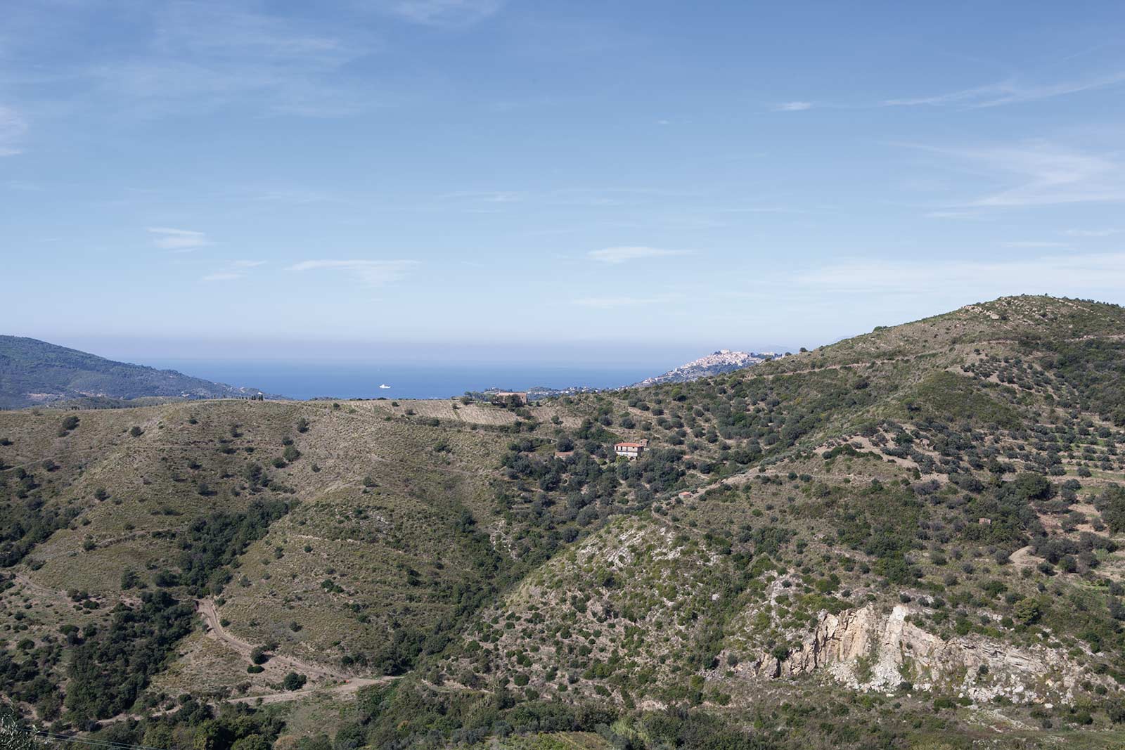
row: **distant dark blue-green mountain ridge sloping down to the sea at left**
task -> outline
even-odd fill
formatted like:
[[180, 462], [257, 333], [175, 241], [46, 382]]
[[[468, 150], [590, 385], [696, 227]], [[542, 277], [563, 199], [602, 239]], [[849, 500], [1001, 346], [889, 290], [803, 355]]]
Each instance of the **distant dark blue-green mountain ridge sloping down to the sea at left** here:
[[256, 396], [176, 370], [115, 362], [36, 338], [0, 336], [0, 407], [20, 408], [74, 398], [231, 398]]

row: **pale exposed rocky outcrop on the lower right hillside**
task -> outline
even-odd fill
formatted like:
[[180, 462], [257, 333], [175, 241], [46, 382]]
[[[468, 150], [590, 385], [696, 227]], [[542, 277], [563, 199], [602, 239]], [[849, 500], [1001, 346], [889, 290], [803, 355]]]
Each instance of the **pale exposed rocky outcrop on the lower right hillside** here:
[[838, 615], [821, 613], [801, 648], [778, 660], [763, 654], [747, 665], [759, 677], [793, 677], [824, 670], [849, 687], [892, 692], [903, 683], [974, 702], [1005, 696], [1023, 703], [1069, 701], [1089, 675], [1060, 650], [1016, 648], [966, 635], [942, 640], [908, 622], [910, 608], [868, 605]]

